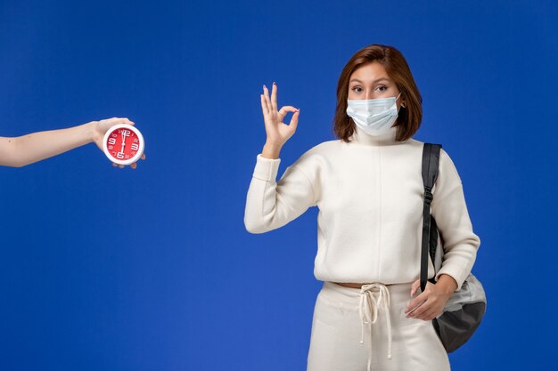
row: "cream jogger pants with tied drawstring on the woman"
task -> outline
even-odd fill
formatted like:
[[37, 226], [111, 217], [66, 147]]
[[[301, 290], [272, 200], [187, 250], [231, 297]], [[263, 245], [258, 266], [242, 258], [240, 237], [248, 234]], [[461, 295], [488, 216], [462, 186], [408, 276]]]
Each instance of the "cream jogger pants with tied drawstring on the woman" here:
[[432, 322], [406, 318], [412, 299], [411, 283], [353, 288], [324, 282], [307, 371], [449, 371]]

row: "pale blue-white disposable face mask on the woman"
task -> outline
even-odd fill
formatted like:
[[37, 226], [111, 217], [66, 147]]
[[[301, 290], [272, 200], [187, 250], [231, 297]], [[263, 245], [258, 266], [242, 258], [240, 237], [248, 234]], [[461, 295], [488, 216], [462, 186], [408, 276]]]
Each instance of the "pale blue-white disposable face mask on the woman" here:
[[391, 125], [398, 118], [396, 101], [399, 95], [397, 98], [347, 100], [347, 115], [368, 135], [377, 136], [389, 133]]

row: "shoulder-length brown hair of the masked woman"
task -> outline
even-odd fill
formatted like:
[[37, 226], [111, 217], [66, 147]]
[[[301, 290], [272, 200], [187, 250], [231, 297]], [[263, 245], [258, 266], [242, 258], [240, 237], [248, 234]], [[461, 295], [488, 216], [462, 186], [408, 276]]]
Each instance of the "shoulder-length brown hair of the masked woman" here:
[[423, 97], [414, 84], [411, 69], [403, 54], [393, 46], [381, 44], [368, 45], [356, 52], [341, 71], [337, 83], [337, 107], [333, 118], [333, 132], [342, 141], [349, 141], [349, 137], [355, 133], [355, 123], [347, 115], [349, 78], [355, 69], [373, 61], [382, 63], [388, 76], [398, 86], [401, 100], [406, 102], [406, 107], [400, 107], [398, 119], [394, 124], [398, 127], [396, 140], [406, 141], [416, 133], [423, 120]]

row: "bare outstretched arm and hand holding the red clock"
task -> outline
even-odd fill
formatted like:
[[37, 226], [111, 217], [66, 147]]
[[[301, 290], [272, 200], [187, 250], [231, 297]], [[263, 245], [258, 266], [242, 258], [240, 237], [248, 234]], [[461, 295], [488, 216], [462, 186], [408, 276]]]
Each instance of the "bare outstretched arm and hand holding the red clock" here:
[[[21, 167], [83, 146], [92, 141], [103, 150], [103, 137], [112, 126], [134, 125], [127, 118], [108, 118], [68, 129], [31, 133], [17, 138], [0, 137], [0, 165]], [[142, 156], [145, 159], [145, 155]], [[116, 166], [116, 164], [112, 164]], [[135, 169], [137, 164], [130, 167]], [[119, 165], [123, 168], [124, 165]]]

